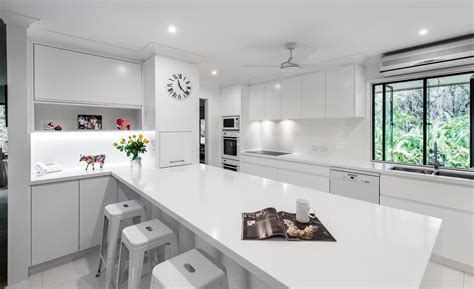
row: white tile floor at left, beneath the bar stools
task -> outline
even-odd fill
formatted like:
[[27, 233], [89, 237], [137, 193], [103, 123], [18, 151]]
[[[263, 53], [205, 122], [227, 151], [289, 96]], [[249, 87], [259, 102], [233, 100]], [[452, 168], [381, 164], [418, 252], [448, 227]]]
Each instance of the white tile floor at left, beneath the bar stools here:
[[[7, 289], [102, 289], [105, 273], [95, 277], [98, 252], [30, 276], [27, 280], [12, 284]], [[150, 288], [150, 274], [143, 276], [140, 289]]]

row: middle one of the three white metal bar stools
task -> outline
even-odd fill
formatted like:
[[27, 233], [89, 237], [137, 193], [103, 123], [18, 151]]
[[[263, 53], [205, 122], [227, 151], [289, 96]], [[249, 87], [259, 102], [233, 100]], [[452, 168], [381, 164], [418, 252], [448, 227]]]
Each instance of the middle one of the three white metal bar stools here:
[[[178, 254], [176, 235], [158, 219], [123, 229], [116, 288], [119, 288], [119, 285], [126, 280], [127, 261], [128, 289], [140, 288], [145, 252], [148, 252], [149, 259], [151, 259], [150, 255], [152, 254], [149, 253], [151, 251], [156, 253], [156, 249], [163, 245], [168, 245], [169, 249], [166, 251], [166, 259]], [[157, 261], [155, 260], [156, 263]], [[152, 262], [150, 261], [150, 263]]]

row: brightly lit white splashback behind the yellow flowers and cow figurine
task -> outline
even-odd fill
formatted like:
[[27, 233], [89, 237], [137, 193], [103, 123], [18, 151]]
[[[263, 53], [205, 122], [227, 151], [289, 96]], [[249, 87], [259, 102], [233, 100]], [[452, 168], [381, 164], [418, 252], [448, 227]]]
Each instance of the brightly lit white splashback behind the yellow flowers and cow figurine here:
[[133, 134], [143, 134], [150, 139], [148, 152], [143, 155], [144, 166], [154, 166], [155, 132], [154, 131], [62, 131], [31, 133], [31, 163], [58, 162], [64, 169], [86, 166], [79, 162], [80, 155], [106, 154], [105, 166], [108, 164], [127, 164], [125, 153], [112, 146], [121, 138]]

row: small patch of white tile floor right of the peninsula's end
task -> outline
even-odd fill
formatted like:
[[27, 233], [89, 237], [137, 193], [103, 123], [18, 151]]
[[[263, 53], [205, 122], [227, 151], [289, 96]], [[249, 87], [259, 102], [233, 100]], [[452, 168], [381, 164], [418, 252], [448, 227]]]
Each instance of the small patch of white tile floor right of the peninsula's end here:
[[429, 262], [426, 267], [420, 289], [467, 289], [464, 284], [464, 273]]

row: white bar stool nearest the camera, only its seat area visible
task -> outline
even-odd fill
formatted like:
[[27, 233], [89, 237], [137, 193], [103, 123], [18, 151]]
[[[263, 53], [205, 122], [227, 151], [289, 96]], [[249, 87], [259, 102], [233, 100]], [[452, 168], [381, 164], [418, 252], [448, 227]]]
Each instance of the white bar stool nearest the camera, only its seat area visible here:
[[151, 289], [225, 289], [224, 270], [193, 249], [153, 268]]

